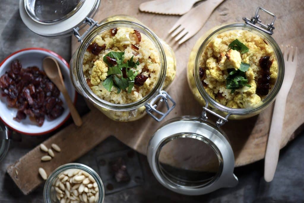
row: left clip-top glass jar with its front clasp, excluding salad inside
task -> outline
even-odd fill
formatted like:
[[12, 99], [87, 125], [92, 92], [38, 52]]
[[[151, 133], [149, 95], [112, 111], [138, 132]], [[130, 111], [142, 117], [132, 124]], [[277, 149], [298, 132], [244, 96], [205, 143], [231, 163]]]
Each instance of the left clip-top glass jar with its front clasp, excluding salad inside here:
[[[154, 88], [151, 89], [147, 95], [133, 103], [119, 104], [102, 100], [92, 92], [84, 77], [83, 59], [88, 46], [98, 34], [114, 28], [131, 28], [139, 31], [141, 35], [145, 35], [152, 41], [160, 58], [160, 72]], [[82, 39], [80, 41], [82, 41]], [[135, 121], [143, 117], [146, 113], [152, 116], [155, 120], [161, 121], [175, 106], [174, 101], [168, 93], [163, 90], [171, 84], [175, 77], [176, 61], [174, 52], [167, 43], [131, 16], [118, 15], [102, 20], [101, 24], [99, 24], [95, 30], [91, 31], [83, 39], [81, 45], [72, 56], [70, 67], [71, 79], [78, 93], [90, 101], [98, 110], [102, 111], [106, 116], [115, 121]], [[166, 103], [167, 112], [162, 113], [155, 109], [155, 103], [158, 100]], [[169, 107], [168, 104], [169, 100], [172, 103], [171, 107]], [[161, 117], [153, 115], [153, 111], [160, 114]]]

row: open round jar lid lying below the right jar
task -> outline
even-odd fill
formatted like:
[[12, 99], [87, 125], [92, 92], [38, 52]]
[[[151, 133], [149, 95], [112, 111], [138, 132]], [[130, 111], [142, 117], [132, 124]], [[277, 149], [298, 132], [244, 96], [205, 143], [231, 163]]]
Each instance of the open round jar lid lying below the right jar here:
[[197, 117], [163, 124], [149, 142], [147, 159], [157, 180], [180, 194], [201, 195], [238, 183], [225, 133]]

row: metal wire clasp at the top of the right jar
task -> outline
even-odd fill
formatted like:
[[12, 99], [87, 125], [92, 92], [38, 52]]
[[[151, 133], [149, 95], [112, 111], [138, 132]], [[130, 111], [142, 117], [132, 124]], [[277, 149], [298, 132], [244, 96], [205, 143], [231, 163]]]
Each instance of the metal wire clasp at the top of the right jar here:
[[[262, 20], [259, 19], [260, 15], [258, 14], [260, 10], [273, 17], [272, 22], [270, 24], [264, 25], [263, 23], [261, 23]], [[270, 35], [273, 34], [273, 30], [275, 29], [275, 27], [273, 26], [275, 24], [275, 19], [276, 19], [275, 14], [273, 14], [273, 13], [271, 13], [271, 12], [261, 8], [261, 7], [257, 7], [257, 11], [255, 12], [254, 17], [251, 17], [251, 20], [248, 19], [248, 18], [245, 18], [245, 17], [243, 18], [245, 23], [247, 23], [247, 24], [249, 24], [249, 25], [265, 32], [265, 33], [268, 33]], [[260, 26], [258, 26], [256, 24], [258, 24]]]

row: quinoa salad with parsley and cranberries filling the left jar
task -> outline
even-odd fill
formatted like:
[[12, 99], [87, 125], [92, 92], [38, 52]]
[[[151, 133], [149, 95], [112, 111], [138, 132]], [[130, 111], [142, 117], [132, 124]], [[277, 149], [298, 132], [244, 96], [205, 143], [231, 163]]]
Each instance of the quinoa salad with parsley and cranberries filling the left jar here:
[[[174, 55], [165, 45], [167, 70], [164, 88], [175, 76]], [[160, 71], [160, 56], [154, 43], [146, 35], [127, 27], [98, 34], [83, 58], [83, 73], [92, 92], [115, 104], [141, 100], [156, 85]], [[111, 111], [111, 117], [130, 121], [143, 116], [144, 112], [145, 107], [142, 106], [132, 111]]]

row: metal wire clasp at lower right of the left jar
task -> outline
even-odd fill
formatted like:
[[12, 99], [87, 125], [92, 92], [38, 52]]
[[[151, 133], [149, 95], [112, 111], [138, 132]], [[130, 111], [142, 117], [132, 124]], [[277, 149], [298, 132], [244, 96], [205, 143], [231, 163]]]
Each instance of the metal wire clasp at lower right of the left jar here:
[[[157, 101], [160, 99], [161, 102], [165, 102], [166, 107], [167, 107], [167, 111], [166, 112], [161, 112], [159, 110], [156, 109], [157, 105], [155, 103], [157, 103]], [[168, 103], [168, 99], [171, 101], [172, 106], [169, 107], [169, 103]], [[145, 107], [146, 107], [146, 112], [147, 114], [149, 114], [152, 118], [154, 118], [156, 121], [162, 121], [164, 119], [164, 117], [166, 117], [172, 109], [174, 109], [176, 103], [175, 101], [171, 98], [171, 96], [164, 90], [159, 91], [159, 94], [157, 96], [155, 96], [150, 103], [146, 103]], [[161, 115], [160, 118], [157, 118], [155, 115], [152, 114], [152, 111]]]

